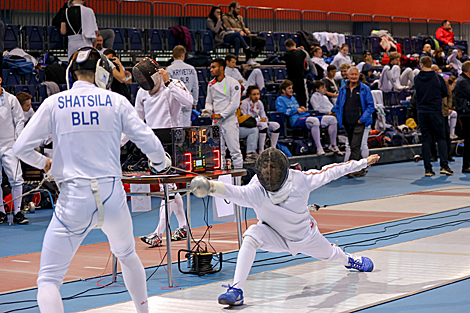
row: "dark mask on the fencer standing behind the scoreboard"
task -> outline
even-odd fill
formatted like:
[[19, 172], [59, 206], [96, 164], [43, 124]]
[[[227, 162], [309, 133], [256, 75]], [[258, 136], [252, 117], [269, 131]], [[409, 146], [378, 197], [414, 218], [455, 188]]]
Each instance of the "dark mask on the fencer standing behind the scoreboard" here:
[[162, 85], [162, 75], [158, 73], [158, 63], [150, 58], [144, 58], [132, 68], [132, 75], [139, 86], [156, 93]]

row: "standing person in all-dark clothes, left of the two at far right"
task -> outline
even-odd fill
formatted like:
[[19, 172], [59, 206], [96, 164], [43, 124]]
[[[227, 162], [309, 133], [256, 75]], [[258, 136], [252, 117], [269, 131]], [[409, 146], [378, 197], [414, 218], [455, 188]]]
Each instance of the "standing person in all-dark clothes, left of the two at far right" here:
[[419, 61], [421, 71], [414, 79], [416, 88], [416, 106], [418, 109], [418, 125], [423, 134], [424, 176], [436, 175], [431, 164], [431, 145], [433, 137], [439, 148], [441, 174], [453, 175], [447, 161], [447, 143], [442, 115], [442, 98], [448, 96], [444, 79], [432, 69], [432, 59], [424, 56]]

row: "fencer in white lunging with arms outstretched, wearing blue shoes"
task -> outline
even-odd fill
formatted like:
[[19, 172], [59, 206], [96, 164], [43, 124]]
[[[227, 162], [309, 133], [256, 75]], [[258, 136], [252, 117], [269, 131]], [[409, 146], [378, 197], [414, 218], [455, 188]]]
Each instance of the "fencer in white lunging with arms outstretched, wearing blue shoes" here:
[[258, 218], [244, 233], [238, 253], [233, 285], [219, 296], [220, 304], [243, 304], [243, 287], [255, 259], [256, 250], [303, 253], [324, 261], [335, 261], [347, 269], [370, 272], [373, 262], [367, 257], [345, 253], [337, 245], [330, 244], [310, 215], [310, 193], [348, 173], [359, 171], [379, 160], [377, 154], [359, 161], [330, 164], [321, 170], [305, 172], [289, 169], [289, 159], [281, 151], [264, 150], [255, 164], [256, 175], [245, 186], [226, 185], [197, 176], [191, 181], [191, 189], [197, 197], [211, 195], [255, 210]]

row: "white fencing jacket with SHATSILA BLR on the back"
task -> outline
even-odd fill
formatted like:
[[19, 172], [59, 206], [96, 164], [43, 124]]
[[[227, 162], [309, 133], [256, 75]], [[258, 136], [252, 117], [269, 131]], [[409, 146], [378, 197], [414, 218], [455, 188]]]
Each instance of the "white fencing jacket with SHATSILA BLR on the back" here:
[[58, 183], [76, 178], [121, 177], [122, 133], [157, 170], [165, 167], [162, 144], [129, 101], [89, 82], [77, 81], [72, 89], [44, 100], [14, 144], [14, 153], [29, 165], [44, 168], [47, 158], [34, 148], [50, 133], [54, 141], [51, 172]]

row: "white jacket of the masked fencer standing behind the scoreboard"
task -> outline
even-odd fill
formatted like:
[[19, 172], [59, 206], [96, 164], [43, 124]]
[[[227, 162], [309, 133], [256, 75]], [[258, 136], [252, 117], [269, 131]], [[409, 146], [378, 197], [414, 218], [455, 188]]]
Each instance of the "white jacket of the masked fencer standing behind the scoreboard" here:
[[168, 87], [162, 82], [160, 90], [154, 95], [140, 88], [135, 109], [150, 128], [171, 128], [180, 126], [181, 108], [191, 108], [193, 101], [185, 85], [178, 79], [172, 79]]

